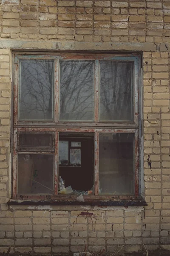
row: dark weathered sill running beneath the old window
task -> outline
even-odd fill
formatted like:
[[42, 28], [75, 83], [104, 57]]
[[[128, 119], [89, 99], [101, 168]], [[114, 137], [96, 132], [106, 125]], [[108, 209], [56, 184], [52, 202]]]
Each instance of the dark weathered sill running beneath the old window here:
[[16, 200], [11, 199], [8, 205], [91, 205], [91, 206], [147, 206], [147, 203], [142, 198], [127, 200], [85, 200], [85, 202], [77, 200]]

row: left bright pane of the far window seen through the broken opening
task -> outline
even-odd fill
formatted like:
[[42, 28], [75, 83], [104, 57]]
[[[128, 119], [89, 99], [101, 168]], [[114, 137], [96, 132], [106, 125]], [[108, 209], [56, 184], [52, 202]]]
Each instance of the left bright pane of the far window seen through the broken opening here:
[[68, 141], [59, 141], [59, 164], [68, 165]]

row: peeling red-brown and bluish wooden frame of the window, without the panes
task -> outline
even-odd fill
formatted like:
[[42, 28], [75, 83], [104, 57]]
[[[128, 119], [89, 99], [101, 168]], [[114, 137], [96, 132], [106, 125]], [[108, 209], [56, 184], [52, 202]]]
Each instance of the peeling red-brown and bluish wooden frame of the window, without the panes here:
[[[141, 56], [138, 53], [118, 54], [118, 53], [89, 53], [89, 52], [57, 52], [57, 53], [37, 53], [37, 52], [13, 52], [14, 59], [14, 116], [13, 116], [13, 199], [41, 199], [55, 201], [75, 201], [75, 195], [58, 195], [58, 144], [59, 132], [94, 133], [94, 195], [85, 195], [86, 202], [136, 200], [139, 195], [139, 70]], [[18, 86], [19, 86], [19, 60], [20, 59], [48, 59], [55, 61], [54, 64], [54, 120], [53, 121], [19, 121], [18, 116]], [[59, 122], [59, 60], [94, 60], [94, 122]], [[99, 61], [117, 60], [134, 62], [134, 122], [99, 122]], [[55, 137], [54, 148], [54, 195], [17, 195], [17, 143], [19, 134], [22, 132], [32, 133], [52, 133]], [[135, 138], [135, 193], [134, 195], [99, 195], [99, 133], [133, 133]], [[24, 151], [26, 153], [26, 151]], [[38, 153], [38, 152], [37, 152]], [[42, 151], [40, 151], [42, 153]], [[44, 152], [43, 152], [44, 153]], [[48, 151], [46, 151], [46, 154]], [[29, 151], [30, 154], [30, 151]]]

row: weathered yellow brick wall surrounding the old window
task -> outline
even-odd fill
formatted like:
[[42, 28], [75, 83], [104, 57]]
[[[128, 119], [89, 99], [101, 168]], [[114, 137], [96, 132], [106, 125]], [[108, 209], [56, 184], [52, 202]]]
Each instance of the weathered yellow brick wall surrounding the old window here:
[[[142, 171], [147, 207], [8, 207], [11, 52], [39, 47], [46, 52], [143, 52]], [[144, 245], [149, 251], [170, 251], [169, 54], [169, 0], [0, 0], [0, 253], [9, 245], [11, 253], [22, 255], [73, 253], [88, 244], [88, 250], [105, 248], [111, 254], [124, 243], [120, 255], [137, 256], [145, 252]], [[77, 217], [81, 211], [93, 217]]]

